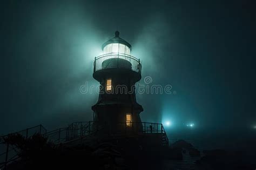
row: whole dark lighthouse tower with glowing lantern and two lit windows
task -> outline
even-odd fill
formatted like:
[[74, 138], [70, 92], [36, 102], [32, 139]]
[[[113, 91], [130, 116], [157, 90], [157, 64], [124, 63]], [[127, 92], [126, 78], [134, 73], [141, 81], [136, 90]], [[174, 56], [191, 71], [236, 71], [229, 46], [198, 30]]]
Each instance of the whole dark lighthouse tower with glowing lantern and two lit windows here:
[[102, 45], [103, 55], [95, 58], [93, 78], [100, 83], [99, 98], [92, 106], [94, 122], [110, 133], [142, 130], [135, 83], [142, 76], [140, 60], [131, 56], [132, 46], [119, 32]]

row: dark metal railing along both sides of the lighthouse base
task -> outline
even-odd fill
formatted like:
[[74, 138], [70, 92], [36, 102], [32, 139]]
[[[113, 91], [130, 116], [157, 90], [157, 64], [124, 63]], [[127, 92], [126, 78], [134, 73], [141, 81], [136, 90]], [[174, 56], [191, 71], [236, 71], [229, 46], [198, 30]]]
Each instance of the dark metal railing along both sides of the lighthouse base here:
[[[30, 138], [33, 134], [42, 134], [53, 144], [58, 145], [65, 142], [75, 141], [87, 137], [95, 132], [104, 130], [104, 126], [100, 126], [96, 121], [75, 122], [65, 128], [58, 128], [57, 130], [47, 132], [42, 125], [27, 128], [26, 130], [19, 131], [11, 134], [21, 134], [24, 138]], [[163, 124], [146, 123], [146, 122], [130, 122], [130, 123], [117, 123], [112, 126], [111, 133], [116, 134], [161, 134], [161, 142], [164, 146], [169, 145], [169, 140], [164, 130]], [[19, 158], [18, 149], [8, 142], [5, 142], [5, 138], [8, 138], [10, 134], [0, 137], [1, 147], [4, 152], [0, 153], [0, 168], [6, 169], [6, 165]]]

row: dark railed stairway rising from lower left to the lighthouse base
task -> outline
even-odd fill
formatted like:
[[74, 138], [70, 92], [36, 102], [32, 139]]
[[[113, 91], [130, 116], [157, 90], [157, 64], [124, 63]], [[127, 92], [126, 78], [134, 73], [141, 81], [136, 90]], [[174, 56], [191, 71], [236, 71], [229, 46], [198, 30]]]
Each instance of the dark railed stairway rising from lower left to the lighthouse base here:
[[55, 145], [64, 144], [69, 141], [84, 139], [92, 135], [97, 130], [92, 128], [93, 121], [75, 122], [68, 127], [58, 128], [57, 130], [47, 132], [42, 125], [26, 128], [25, 130], [10, 133], [0, 137], [0, 169], [6, 169], [10, 162], [19, 159], [18, 148], [6, 142], [6, 139], [14, 134], [22, 135], [23, 138], [31, 138], [34, 134], [41, 134], [48, 141]]

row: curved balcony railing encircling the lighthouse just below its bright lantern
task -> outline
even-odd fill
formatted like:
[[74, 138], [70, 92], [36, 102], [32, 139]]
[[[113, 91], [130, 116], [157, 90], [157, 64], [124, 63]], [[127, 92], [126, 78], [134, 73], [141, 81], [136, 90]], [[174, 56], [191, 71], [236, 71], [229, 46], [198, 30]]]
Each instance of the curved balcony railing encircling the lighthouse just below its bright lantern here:
[[102, 69], [117, 68], [130, 69], [135, 72], [141, 73], [142, 64], [140, 64], [139, 59], [123, 53], [108, 53], [95, 57], [93, 72]]

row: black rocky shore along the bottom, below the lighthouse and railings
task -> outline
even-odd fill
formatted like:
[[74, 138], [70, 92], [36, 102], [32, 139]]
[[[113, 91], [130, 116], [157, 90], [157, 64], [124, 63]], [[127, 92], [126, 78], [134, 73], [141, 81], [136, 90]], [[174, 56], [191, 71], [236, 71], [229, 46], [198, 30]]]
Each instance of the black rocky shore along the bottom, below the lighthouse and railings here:
[[184, 140], [170, 146], [145, 146], [139, 140], [55, 146], [40, 135], [29, 139], [12, 137], [20, 159], [8, 169], [255, 169], [254, 150], [213, 149], [199, 151]]

